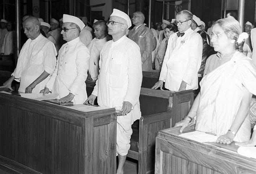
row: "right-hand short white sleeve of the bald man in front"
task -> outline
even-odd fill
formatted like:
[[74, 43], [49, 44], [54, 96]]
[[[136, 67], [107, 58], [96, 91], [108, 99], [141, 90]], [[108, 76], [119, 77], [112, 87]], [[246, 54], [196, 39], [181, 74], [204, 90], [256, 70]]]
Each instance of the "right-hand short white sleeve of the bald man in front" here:
[[47, 43], [44, 51], [43, 70], [49, 74], [52, 74], [56, 65], [57, 51], [52, 42]]

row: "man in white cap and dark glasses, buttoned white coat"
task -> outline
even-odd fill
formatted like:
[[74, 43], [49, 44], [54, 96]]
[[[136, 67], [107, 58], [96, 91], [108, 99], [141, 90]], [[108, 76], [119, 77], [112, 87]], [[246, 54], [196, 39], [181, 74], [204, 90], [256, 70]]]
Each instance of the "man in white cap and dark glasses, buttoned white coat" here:
[[61, 34], [67, 43], [60, 48], [55, 70], [41, 91], [43, 95], [58, 93], [60, 102], [83, 104], [87, 99], [85, 80], [89, 64], [89, 51], [80, 41], [84, 23], [77, 17], [63, 14]]

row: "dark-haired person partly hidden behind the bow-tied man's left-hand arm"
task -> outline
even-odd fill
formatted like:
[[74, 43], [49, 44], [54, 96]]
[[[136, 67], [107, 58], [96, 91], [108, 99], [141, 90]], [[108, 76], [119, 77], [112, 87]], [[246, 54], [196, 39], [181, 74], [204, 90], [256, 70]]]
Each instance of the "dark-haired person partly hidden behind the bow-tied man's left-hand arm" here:
[[156, 70], [161, 70], [162, 63], [164, 60], [165, 51], [167, 48], [167, 43], [170, 38], [170, 35], [173, 33], [176, 33], [178, 31], [177, 26], [174, 24], [170, 24], [165, 27], [164, 29], [164, 40], [160, 43], [160, 46], [158, 47], [157, 53], [156, 53], [156, 59], [155, 59], [155, 68]]

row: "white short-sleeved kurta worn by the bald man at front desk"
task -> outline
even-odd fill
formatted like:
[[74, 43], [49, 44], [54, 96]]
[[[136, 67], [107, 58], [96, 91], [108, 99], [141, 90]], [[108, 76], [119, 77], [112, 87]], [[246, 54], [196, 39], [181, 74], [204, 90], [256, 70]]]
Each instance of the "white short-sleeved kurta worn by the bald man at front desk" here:
[[[57, 51], [52, 42], [40, 34], [36, 39], [30, 38], [24, 43], [19, 54], [15, 71], [12, 75], [16, 81], [20, 81], [19, 92], [25, 92], [33, 81], [44, 71], [52, 74], [56, 64]], [[44, 89], [49, 76], [36, 85], [32, 93], [39, 93]]]

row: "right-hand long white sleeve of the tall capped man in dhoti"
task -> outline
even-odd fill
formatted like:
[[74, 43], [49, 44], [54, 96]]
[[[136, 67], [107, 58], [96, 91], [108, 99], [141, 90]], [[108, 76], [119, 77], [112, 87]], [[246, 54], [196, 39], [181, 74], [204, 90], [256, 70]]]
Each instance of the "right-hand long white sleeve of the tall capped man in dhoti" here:
[[132, 47], [128, 50], [128, 88], [124, 101], [130, 102], [133, 106], [139, 101], [139, 93], [142, 82], [141, 54], [139, 47]]

